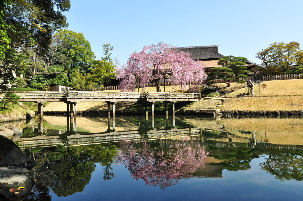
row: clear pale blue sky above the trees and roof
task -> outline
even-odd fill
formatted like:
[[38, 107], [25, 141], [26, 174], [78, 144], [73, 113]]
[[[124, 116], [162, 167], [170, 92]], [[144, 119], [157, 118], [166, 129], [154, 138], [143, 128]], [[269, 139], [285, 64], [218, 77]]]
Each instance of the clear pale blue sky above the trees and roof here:
[[176, 47], [220, 45], [219, 53], [246, 57], [274, 42], [303, 45], [303, 1], [98, 1], [71, 0], [65, 12], [74, 32], [83, 33], [96, 59], [104, 43], [114, 47], [122, 64], [144, 45], [164, 42]]

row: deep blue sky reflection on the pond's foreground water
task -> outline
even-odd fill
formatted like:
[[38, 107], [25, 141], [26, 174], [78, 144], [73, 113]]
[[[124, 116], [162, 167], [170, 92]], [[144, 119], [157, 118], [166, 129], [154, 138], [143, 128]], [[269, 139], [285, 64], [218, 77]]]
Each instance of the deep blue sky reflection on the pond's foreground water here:
[[303, 183], [275, 179], [260, 169], [259, 164], [264, 160], [265, 157], [252, 159], [251, 169], [245, 171], [223, 170], [221, 179], [179, 180], [179, 184], [165, 190], [145, 186], [142, 179], [134, 180], [123, 165], [112, 166], [115, 177], [104, 181], [103, 168], [96, 164], [83, 192], [65, 198], [52, 195], [52, 200], [300, 200]]

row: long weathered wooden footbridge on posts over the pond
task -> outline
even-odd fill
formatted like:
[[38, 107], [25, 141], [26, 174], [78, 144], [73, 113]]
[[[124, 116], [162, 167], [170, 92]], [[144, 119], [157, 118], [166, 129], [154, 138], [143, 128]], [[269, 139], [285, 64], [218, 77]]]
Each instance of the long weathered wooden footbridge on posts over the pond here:
[[[5, 92], [0, 93], [0, 101], [4, 98]], [[112, 104], [113, 119], [115, 119], [115, 103], [118, 101], [139, 102], [140, 114], [142, 104], [145, 103], [145, 113], [148, 116], [148, 103], [151, 104], [152, 116], [154, 116], [154, 103], [157, 101], [165, 102], [166, 115], [168, 114], [168, 103], [172, 104], [172, 114], [175, 115], [176, 101], [198, 101], [199, 93], [161, 93], [161, 92], [82, 92], [82, 91], [65, 91], [65, 92], [41, 92], [41, 91], [10, 91], [17, 94], [19, 102], [37, 102], [38, 119], [43, 119], [44, 102], [66, 102], [66, 114], [70, 117], [70, 122], [77, 117], [77, 102], [80, 101], [103, 101], [108, 104], [108, 120], [111, 116], [110, 105]], [[39, 121], [39, 120], [38, 120]], [[41, 121], [39, 121], [41, 123]], [[39, 123], [38, 122], [38, 123]], [[115, 126], [115, 125], [114, 125]]]

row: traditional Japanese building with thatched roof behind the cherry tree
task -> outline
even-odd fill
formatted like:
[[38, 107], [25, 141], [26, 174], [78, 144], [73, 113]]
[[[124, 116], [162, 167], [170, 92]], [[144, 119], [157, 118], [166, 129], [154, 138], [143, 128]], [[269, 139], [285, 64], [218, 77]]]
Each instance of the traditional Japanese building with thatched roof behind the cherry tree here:
[[[212, 68], [218, 67], [218, 61], [224, 55], [218, 52], [219, 45], [205, 45], [205, 46], [190, 46], [190, 47], [176, 47], [179, 51], [187, 52], [190, 54], [191, 59], [198, 60], [205, 65], [205, 73], [212, 72]], [[248, 70], [257, 66], [257, 64], [246, 61]]]

